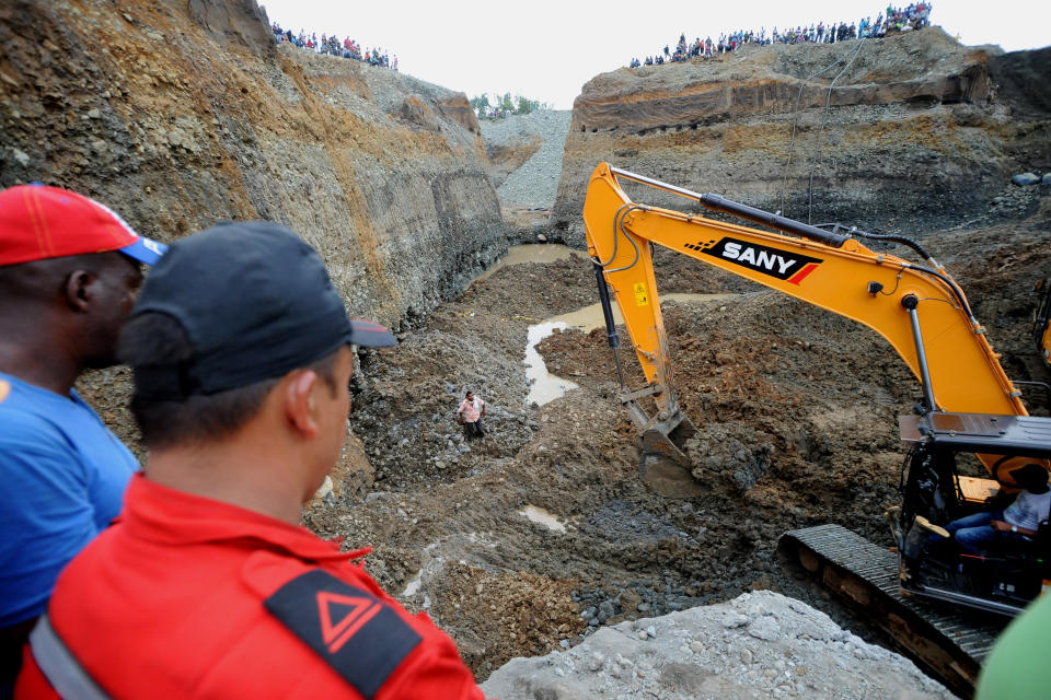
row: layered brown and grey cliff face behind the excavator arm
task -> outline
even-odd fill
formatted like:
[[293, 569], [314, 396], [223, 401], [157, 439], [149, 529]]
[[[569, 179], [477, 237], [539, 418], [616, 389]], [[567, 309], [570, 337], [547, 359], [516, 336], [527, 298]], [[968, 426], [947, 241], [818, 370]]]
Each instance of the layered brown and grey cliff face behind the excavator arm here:
[[[1051, 164], [1051, 114], [1027, 80], [1041, 67], [928, 28], [604, 73], [574, 104], [552, 223], [584, 245], [601, 161], [815, 223], [958, 223], [985, 212], [1012, 173]], [[656, 190], [637, 198], [695, 210]]]

